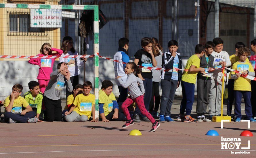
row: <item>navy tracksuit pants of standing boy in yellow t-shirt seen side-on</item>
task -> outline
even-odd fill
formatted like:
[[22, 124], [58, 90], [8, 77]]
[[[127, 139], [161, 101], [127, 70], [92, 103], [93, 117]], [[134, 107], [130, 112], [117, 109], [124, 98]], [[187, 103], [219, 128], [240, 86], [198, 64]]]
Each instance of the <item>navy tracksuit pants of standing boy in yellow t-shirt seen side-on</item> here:
[[183, 115], [186, 110], [186, 115], [190, 115], [194, 103], [195, 84], [181, 81], [181, 87], [183, 98], [180, 104], [180, 114]]

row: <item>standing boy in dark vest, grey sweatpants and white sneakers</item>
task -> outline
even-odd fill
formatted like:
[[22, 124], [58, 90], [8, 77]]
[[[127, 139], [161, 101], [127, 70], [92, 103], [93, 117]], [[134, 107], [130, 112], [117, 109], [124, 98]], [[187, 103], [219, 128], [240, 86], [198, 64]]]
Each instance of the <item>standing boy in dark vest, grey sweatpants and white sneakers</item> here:
[[[212, 68], [214, 57], [211, 55], [213, 48], [215, 47], [214, 43], [208, 41], [205, 44], [205, 55], [200, 58], [200, 67], [201, 68]], [[207, 71], [205, 71], [207, 73]], [[197, 103], [196, 103], [196, 113], [197, 113], [197, 122], [211, 122], [211, 120], [205, 117], [206, 108], [209, 100], [209, 92], [211, 89], [211, 74], [207, 73], [203, 75], [198, 72], [197, 74]]]

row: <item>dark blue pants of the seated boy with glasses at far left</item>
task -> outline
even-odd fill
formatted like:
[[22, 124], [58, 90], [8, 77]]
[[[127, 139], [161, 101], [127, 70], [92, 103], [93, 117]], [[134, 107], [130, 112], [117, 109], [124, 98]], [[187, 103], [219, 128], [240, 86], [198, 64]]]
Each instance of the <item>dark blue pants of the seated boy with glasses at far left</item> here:
[[17, 123], [27, 123], [28, 118], [34, 118], [36, 113], [34, 111], [29, 111], [25, 115], [21, 115], [20, 113], [12, 113], [12, 112], [5, 112], [4, 113], [4, 120], [6, 123], [9, 123], [9, 118], [16, 121]]

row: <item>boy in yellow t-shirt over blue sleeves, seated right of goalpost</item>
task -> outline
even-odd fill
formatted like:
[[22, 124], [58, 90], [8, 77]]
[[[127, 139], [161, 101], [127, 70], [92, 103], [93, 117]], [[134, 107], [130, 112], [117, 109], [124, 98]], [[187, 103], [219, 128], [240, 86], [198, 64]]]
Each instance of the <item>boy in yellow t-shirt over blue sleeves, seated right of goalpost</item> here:
[[104, 80], [99, 91], [99, 113], [102, 122], [125, 120], [125, 114], [119, 112], [112, 87], [113, 83], [110, 80]]

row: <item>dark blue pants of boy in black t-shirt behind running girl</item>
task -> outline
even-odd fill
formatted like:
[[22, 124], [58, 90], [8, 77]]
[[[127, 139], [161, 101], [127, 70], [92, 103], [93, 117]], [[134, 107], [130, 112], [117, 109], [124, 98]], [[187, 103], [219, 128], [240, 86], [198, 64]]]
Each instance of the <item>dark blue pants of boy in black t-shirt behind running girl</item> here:
[[[148, 110], [149, 109], [149, 103], [151, 101], [151, 96], [152, 96], [152, 78], [144, 78], [145, 80], [143, 80], [143, 85], [145, 88], [145, 95], [144, 95], [144, 104], [145, 104], [145, 108]], [[138, 106], [136, 106], [134, 114], [138, 114], [141, 117], [146, 117], [144, 116], [141, 112]]]

